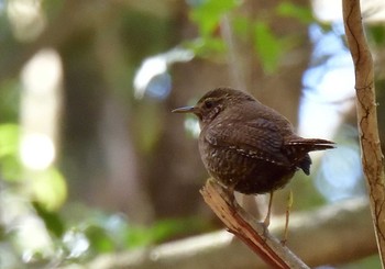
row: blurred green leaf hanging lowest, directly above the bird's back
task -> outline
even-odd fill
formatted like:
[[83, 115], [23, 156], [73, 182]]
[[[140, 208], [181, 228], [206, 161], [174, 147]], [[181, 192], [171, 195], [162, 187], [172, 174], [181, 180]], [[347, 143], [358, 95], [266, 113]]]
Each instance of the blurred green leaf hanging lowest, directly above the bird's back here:
[[256, 21], [254, 24], [254, 48], [264, 71], [266, 74], [274, 72], [277, 69], [284, 46], [265, 22]]

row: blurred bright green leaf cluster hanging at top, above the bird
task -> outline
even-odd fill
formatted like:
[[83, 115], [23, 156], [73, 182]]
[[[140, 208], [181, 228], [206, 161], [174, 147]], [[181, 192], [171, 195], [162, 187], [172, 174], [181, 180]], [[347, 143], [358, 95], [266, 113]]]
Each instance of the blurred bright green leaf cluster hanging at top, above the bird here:
[[[223, 18], [240, 4], [241, 2], [237, 0], [210, 0], [193, 7], [190, 18], [198, 27], [199, 37], [187, 44], [197, 55], [212, 57], [212, 54], [226, 52], [227, 45], [219, 32], [224, 27], [223, 23], [227, 23], [223, 22]], [[262, 68], [267, 75], [277, 70], [282, 56], [297, 43], [297, 33], [280, 36], [274, 33], [271, 26], [275, 20], [274, 15], [294, 19], [304, 24], [310, 24], [314, 21], [310, 8], [289, 1], [278, 3], [274, 13], [264, 13], [257, 19], [251, 19], [242, 13], [234, 13], [228, 18], [237, 38], [245, 40], [251, 36], [254, 52], [260, 57]]]

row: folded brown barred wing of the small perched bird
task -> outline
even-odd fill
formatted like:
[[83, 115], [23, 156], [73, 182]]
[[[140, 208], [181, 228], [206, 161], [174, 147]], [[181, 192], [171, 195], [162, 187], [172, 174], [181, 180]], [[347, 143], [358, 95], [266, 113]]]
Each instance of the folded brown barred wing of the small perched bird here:
[[205, 132], [212, 146], [227, 147], [250, 158], [287, 166], [289, 160], [282, 152], [283, 136], [274, 122], [263, 117], [229, 124], [213, 124]]

